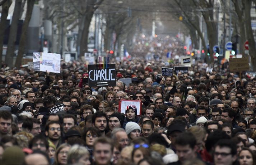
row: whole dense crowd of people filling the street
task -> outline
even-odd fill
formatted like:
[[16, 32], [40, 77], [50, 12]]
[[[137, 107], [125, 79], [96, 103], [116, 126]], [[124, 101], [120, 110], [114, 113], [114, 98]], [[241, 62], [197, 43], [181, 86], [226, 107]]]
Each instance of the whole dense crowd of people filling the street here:
[[[81, 62], [62, 63], [59, 74], [3, 67], [0, 164], [256, 165], [252, 75], [197, 62], [162, 76], [178, 62], [161, 57], [111, 63], [116, 86], [107, 87], [89, 86]], [[120, 113], [122, 100], [142, 106]]]

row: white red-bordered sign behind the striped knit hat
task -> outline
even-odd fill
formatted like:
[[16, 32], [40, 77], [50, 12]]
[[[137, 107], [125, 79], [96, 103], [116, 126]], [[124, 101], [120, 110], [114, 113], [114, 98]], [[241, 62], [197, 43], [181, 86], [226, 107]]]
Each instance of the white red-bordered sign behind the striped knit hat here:
[[137, 108], [137, 115], [141, 115], [142, 108], [141, 108], [141, 101], [139, 100], [120, 100], [118, 112], [125, 114], [126, 107], [129, 105], [134, 105]]

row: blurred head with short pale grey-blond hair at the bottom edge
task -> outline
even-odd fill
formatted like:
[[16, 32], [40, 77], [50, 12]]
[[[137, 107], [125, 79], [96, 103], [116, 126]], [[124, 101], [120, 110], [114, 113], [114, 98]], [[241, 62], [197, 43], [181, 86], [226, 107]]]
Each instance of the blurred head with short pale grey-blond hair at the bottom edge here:
[[90, 153], [84, 147], [80, 145], [73, 145], [68, 152], [67, 164], [81, 164], [81, 165], [90, 165], [89, 160]]

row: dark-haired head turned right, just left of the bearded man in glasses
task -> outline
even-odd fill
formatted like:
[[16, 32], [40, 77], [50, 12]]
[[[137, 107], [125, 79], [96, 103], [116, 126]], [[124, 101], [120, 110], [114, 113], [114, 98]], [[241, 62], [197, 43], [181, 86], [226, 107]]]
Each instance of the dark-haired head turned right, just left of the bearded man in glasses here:
[[36, 136], [41, 134], [40, 122], [36, 118], [27, 118], [23, 121], [22, 130]]

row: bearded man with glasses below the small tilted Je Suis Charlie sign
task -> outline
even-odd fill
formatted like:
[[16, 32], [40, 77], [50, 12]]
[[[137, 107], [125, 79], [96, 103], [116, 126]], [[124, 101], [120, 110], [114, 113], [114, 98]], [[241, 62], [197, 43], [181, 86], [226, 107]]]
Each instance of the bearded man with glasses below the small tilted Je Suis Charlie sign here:
[[57, 121], [50, 121], [45, 127], [45, 135], [56, 148], [61, 145], [61, 124]]

